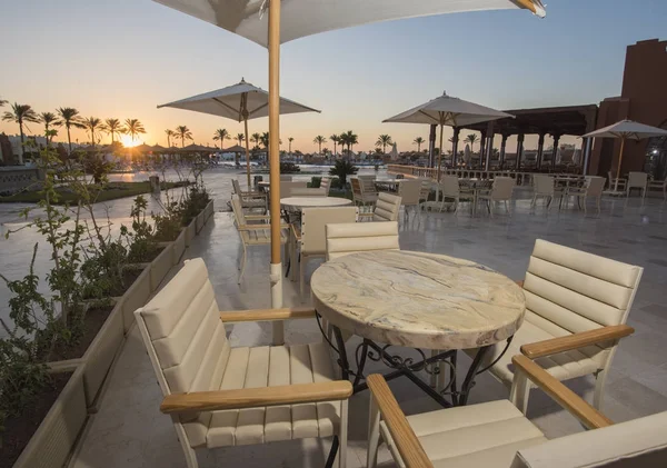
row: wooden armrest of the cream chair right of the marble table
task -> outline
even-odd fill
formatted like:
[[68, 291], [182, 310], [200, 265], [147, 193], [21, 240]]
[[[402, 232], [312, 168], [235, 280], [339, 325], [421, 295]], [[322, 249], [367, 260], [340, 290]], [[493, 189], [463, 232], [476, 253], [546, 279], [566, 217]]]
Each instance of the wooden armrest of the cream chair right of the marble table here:
[[531, 342], [521, 346], [521, 354], [530, 359], [544, 356], [557, 355], [558, 352], [584, 348], [604, 341], [617, 340], [633, 335], [635, 329], [627, 325], [614, 325], [610, 327], [596, 328], [595, 330], [581, 331], [567, 337], [552, 338], [549, 340]]

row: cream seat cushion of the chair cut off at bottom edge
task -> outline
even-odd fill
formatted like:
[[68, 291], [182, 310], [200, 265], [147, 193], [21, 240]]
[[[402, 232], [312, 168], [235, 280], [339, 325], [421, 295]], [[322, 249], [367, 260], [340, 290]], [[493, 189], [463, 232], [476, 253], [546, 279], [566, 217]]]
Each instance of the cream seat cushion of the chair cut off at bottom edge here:
[[[547, 441], [508, 400], [441, 409], [407, 419], [435, 467], [509, 467], [517, 450]], [[380, 431], [398, 465], [405, 467], [384, 421]]]

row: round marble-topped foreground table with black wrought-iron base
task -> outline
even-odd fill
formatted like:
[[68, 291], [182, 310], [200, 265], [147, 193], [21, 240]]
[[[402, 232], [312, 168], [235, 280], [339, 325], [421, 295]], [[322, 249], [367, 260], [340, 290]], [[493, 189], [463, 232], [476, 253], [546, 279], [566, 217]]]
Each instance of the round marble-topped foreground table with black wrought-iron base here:
[[[495, 346], [504, 354], [524, 320], [526, 298], [506, 276], [468, 260], [407, 250], [352, 253], [327, 261], [310, 280], [320, 330], [338, 354], [344, 379], [367, 389], [368, 360], [405, 376], [444, 407], [466, 405], [475, 377]], [[362, 338], [350, 366], [344, 336]], [[504, 345], [504, 341], [507, 345]], [[404, 349], [398, 352], [397, 348]], [[424, 350], [431, 350], [427, 357]], [[457, 352], [472, 364], [459, 388]], [[449, 381], [438, 389], [417, 375]], [[444, 380], [445, 375], [441, 376]]]

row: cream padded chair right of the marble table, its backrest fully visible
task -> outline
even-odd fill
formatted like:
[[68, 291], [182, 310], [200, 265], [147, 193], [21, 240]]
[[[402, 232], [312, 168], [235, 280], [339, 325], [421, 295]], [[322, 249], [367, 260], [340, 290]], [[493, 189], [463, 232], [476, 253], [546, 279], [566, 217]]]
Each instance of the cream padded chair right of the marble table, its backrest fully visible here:
[[[593, 374], [593, 405], [599, 409], [607, 371], [623, 337], [616, 326], [627, 321], [641, 272], [641, 267], [537, 239], [522, 281], [524, 323], [491, 374], [509, 387], [511, 356], [527, 350], [528, 357], [558, 380]], [[600, 336], [608, 337], [604, 345]], [[573, 342], [576, 346], [570, 348]], [[486, 356], [487, 365], [504, 348], [505, 342], [496, 345]], [[526, 405], [529, 390], [525, 389]]]

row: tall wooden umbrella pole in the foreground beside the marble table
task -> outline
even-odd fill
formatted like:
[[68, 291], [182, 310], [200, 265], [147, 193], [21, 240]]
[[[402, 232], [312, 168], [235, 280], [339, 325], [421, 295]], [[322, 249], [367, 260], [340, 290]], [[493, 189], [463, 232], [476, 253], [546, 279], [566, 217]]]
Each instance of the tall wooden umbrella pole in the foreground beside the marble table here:
[[[269, 2], [269, 180], [271, 183], [271, 307], [282, 307], [280, 262], [280, 0]], [[292, 268], [296, 268], [292, 265]], [[273, 322], [273, 343], [282, 345], [282, 321]]]

